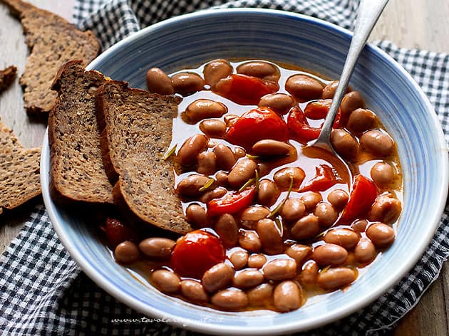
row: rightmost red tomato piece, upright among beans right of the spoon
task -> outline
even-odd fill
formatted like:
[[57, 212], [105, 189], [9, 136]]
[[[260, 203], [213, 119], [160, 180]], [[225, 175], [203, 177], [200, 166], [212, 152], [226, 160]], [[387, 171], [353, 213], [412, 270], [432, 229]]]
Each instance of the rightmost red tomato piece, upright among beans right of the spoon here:
[[349, 201], [343, 209], [339, 222], [349, 224], [355, 219], [366, 218], [376, 197], [376, 184], [371, 179], [358, 174], [354, 179]]

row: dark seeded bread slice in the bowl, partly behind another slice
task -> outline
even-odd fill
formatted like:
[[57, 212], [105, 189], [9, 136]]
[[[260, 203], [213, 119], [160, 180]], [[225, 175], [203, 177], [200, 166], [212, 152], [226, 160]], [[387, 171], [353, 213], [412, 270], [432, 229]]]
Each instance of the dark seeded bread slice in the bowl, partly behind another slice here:
[[58, 92], [48, 116], [50, 191], [58, 201], [113, 204], [113, 187], [105, 174], [100, 149], [95, 91], [106, 78], [69, 61], [58, 71]]

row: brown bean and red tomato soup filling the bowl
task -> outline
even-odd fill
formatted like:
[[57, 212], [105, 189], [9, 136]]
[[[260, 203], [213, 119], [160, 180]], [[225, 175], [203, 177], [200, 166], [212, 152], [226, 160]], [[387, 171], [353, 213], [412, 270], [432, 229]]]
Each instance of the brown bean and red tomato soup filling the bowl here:
[[113, 258], [162, 293], [217, 310], [285, 313], [351, 285], [394, 243], [401, 162], [362, 93], [345, 93], [331, 134], [351, 167], [343, 177], [329, 153], [304, 150], [336, 80], [222, 58], [171, 75], [150, 68], [146, 80], [150, 92], [182, 97], [164, 157], [175, 185], [165, 188], [194, 231], [177, 236], [126, 218], [103, 229]]

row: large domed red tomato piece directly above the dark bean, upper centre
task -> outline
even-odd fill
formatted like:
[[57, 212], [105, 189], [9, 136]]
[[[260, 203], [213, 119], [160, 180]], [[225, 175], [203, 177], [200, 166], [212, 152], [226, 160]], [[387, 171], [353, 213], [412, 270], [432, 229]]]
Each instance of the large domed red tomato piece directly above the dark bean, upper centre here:
[[257, 107], [244, 112], [226, 135], [226, 140], [232, 145], [242, 146], [247, 150], [264, 139], [278, 141], [289, 139], [289, 130], [284, 119], [268, 107]]

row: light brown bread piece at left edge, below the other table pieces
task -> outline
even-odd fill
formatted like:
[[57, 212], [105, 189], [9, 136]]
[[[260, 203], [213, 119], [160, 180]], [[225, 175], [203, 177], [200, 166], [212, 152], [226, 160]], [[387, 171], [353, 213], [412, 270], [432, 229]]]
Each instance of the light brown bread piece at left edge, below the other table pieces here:
[[40, 148], [24, 149], [0, 122], [0, 214], [41, 194], [40, 158]]

